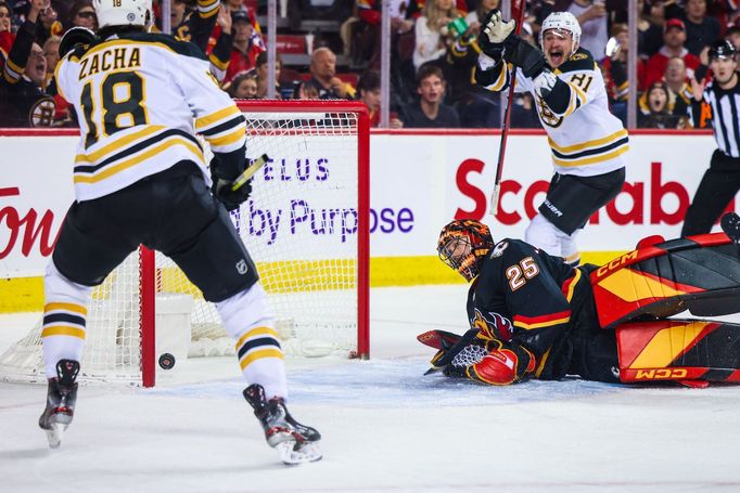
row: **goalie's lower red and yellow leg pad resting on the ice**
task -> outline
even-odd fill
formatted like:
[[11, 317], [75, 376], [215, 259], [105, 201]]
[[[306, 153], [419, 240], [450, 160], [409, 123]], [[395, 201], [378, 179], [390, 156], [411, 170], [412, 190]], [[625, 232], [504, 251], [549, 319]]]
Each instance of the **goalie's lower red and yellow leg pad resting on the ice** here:
[[658, 320], [616, 328], [622, 381], [740, 381], [740, 324]]

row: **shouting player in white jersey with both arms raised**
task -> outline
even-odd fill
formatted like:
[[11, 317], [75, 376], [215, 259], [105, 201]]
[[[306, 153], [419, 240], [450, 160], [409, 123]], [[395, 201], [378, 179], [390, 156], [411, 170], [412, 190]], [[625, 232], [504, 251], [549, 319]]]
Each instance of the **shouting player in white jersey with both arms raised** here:
[[571, 264], [579, 262], [575, 237], [590, 216], [622, 190], [627, 131], [609, 111], [604, 81], [591, 54], [579, 48], [580, 26], [569, 12], [543, 22], [541, 51], [514, 34], [515, 21], [498, 10], [483, 23], [476, 81], [490, 91], [531, 92], [547, 131], [554, 176], [525, 241]]

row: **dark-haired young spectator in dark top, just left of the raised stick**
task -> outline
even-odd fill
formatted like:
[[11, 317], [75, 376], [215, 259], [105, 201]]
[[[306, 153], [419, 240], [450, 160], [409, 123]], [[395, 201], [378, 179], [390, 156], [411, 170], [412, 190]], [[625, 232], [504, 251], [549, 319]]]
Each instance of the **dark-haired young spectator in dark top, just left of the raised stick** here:
[[[433, 0], [430, 0], [433, 1]], [[451, 106], [442, 104], [445, 98], [445, 79], [442, 68], [426, 64], [417, 73], [419, 102], [407, 106], [407, 128], [458, 128], [460, 118]]]

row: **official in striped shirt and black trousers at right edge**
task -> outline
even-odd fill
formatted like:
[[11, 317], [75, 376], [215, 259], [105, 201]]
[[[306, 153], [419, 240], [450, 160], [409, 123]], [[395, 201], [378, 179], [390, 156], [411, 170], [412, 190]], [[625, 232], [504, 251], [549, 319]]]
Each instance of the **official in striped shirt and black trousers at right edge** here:
[[727, 204], [740, 190], [740, 83], [736, 50], [728, 40], [716, 41], [709, 52], [713, 79], [704, 87], [692, 79], [694, 116], [709, 106], [717, 150], [686, 212], [681, 236], [712, 231]]

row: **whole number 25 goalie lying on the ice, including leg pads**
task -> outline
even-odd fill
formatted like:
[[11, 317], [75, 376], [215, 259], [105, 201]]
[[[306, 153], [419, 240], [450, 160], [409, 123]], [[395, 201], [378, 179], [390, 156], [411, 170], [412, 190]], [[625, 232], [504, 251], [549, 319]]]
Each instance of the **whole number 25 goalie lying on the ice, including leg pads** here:
[[[470, 329], [430, 330], [432, 371], [489, 385], [565, 375], [604, 382], [740, 382], [740, 325], [668, 319], [740, 308], [740, 217], [726, 234], [647, 238], [598, 268], [572, 268], [519, 239], [494, 243], [485, 224], [455, 220], [439, 235], [445, 264], [471, 283]], [[650, 287], [646, 287], [650, 286]]]

